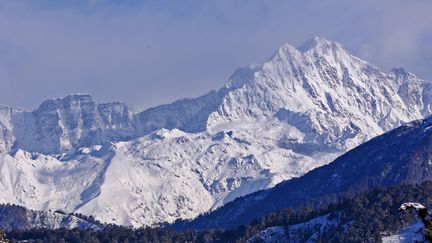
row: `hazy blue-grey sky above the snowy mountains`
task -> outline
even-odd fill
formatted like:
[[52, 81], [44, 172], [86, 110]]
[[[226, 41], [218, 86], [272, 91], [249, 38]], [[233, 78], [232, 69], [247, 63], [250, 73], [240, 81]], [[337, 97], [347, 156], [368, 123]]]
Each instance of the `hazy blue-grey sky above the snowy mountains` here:
[[74, 93], [139, 111], [222, 87], [313, 36], [432, 80], [430, 0], [0, 0], [0, 104]]

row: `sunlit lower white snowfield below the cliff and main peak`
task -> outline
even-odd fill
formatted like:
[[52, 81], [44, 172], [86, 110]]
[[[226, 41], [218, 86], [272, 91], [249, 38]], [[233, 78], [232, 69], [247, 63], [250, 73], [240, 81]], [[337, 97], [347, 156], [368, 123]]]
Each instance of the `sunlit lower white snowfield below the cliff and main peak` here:
[[[253, 131], [289, 135], [288, 125], [266, 125]], [[23, 150], [3, 154], [0, 201], [150, 225], [195, 217], [313, 168], [314, 157], [280, 148], [273, 134], [255, 140], [249, 129], [217, 134], [164, 129], [58, 156]]]

